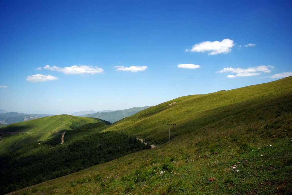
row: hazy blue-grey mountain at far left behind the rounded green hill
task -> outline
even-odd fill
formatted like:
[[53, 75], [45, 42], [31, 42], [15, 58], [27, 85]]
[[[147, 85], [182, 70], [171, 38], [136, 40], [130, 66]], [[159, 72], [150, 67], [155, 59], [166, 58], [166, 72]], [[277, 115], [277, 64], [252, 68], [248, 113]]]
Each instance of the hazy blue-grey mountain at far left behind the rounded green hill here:
[[32, 120], [32, 119], [41, 118], [41, 117], [52, 116], [52, 115], [39, 115], [39, 114], [24, 114], [24, 113], [17, 113], [17, 112], [10, 112], [10, 113], [8, 112], [5, 113], [5, 112], [6, 112], [5, 110], [0, 110], [0, 124], [3, 124], [3, 125]]

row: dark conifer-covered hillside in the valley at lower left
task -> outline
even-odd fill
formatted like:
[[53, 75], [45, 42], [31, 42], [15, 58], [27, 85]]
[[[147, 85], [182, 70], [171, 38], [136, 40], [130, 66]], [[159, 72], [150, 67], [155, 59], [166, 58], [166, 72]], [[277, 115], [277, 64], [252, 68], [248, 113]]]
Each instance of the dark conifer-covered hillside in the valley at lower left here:
[[85, 124], [61, 135], [0, 155], [0, 194], [101, 164], [147, 149], [133, 136], [117, 131], [99, 133], [102, 121]]

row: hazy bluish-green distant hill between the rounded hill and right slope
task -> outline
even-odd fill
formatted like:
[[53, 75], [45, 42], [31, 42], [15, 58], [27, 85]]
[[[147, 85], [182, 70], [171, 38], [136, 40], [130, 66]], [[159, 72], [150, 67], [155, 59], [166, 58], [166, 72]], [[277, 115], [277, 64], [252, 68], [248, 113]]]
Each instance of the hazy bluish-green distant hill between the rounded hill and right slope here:
[[102, 113], [94, 113], [86, 115], [86, 117], [95, 117], [102, 120], [106, 120], [108, 122], [114, 123], [117, 122], [125, 117], [129, 117], [135, 113], [138, 113], [141, 110], [145, 110], [146, 108], [150, 108], [151, 106], [144, 106], [144, 107], [134, 107], [125, 110], [116, 110], [111, 112], [102, 112]]

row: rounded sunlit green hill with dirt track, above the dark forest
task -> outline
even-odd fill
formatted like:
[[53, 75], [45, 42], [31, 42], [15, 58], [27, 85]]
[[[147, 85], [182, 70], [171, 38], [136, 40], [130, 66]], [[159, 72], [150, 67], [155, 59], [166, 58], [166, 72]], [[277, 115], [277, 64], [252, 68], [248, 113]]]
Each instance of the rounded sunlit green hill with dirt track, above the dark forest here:
[[65, 130], [71, 130], [70, 126], [72, 125], [72, 121], [74, 121], [77, 126], [80, 126], [87, 123], [96, 123], [100, 120], [90, 117], [55, 115], [6, 125], [0, 128], [0, 133], [17, 133], [1, 137], [2, 143], [0, 143], [0, 154], [4, 154], [5, 152], [9, 152], [11, 150], [16, 150], [33, 142], [46, 140], [54, 135], [57, 135], [54, 133], [62, 133]]

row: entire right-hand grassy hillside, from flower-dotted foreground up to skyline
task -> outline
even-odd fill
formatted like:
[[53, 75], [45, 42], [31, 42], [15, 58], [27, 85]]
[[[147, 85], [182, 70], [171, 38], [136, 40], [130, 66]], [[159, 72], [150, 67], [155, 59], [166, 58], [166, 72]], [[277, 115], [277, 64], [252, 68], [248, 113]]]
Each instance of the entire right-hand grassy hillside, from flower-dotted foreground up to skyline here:
[[[168, 138], [165, 124], [161, 129], [166, 133], [159, 134], [159, 128], [152, 127], [157, 139], [149, 131], [152, 125], [160, 124], [154, 120], [159, 115], [163, 117], [160, 122], [177, 123], [175, 141], [18, 194], [291, 194], [291, 89], [289, 77], [178, 98], [172, 107], [167, 106], [173, 102], [169, 101], [149, 108], [109, 129], [117, 130], [117, 125], [127, 125], [136, 118], [134, 127], [127, 125], [124, 131], [143, 132], [144, 137], [164, 141]], [[213, 181], [208, 181], [211, 178]]]

